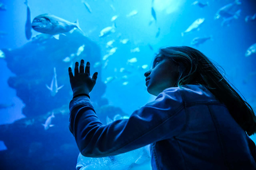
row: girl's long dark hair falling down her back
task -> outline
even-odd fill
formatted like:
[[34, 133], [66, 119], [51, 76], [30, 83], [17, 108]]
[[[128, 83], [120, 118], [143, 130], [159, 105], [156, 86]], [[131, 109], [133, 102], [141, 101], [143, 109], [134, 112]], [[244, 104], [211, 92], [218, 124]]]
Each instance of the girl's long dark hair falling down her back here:
[[256, 132], [256, 116], [252, 107], [243, 99], [241, 92], [220, 73], [217, 65], [223, 68], [219, 64], [188, 46], [160, 48], [158, 55], [170, 58], [180, 66], [180, 75], [174, 87], [201, 84], [227, 106], [231, 116], [248, 135]]

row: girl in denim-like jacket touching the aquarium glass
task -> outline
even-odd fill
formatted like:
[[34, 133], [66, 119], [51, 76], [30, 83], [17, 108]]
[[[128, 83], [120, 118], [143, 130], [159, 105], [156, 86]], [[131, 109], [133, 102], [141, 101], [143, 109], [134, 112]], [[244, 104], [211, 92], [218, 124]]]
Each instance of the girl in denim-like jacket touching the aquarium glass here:
[[69, 129], [86, 157], [122, 154], [150, 144], [152, 169], [256, 169], [256, 132], [252, 107], [230, 86], [217, 67], [198, 50], [159, 49], [145, 73], [156, 99], [129, 119], [99, 121], [90, 101], [98, 73], [91, 78], [84, 61], [75, 75], [69, 67], [74, 98]]

